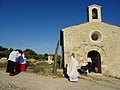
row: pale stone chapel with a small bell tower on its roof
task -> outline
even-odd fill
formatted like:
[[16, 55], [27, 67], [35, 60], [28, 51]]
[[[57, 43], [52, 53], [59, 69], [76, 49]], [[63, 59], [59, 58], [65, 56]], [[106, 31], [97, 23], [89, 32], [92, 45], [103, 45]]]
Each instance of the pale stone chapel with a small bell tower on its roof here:
[[92, 72], [120, 77], [120, 26], [102, 22], [101, 6], [96, 4], [87, 7], [87, 19], [60, 31], [64, 67], [75, 53], [80, 66], [90, 57]]

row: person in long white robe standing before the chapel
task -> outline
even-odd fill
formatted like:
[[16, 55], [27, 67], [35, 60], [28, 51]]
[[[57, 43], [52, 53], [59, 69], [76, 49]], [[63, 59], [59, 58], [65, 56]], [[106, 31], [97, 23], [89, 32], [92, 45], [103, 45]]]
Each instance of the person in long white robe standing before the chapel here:
[[67, 75], [69, 76], [69, 81], [76, 82], [78, 81], [79, 73], [77, 71], [78, 61], [74, 58], [75, 54], [71, 54], [71, 58], [67, 66]]

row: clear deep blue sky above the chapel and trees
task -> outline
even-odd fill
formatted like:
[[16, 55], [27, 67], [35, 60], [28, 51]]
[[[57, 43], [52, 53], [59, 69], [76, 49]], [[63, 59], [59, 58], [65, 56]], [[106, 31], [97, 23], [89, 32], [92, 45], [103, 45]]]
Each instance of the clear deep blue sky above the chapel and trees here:
[[0, 0], [0, 45], [54, 53], [60, 30], [87, 22], [86, 8], [102, 6], [102, 21], [120, 26], [120, 0]]

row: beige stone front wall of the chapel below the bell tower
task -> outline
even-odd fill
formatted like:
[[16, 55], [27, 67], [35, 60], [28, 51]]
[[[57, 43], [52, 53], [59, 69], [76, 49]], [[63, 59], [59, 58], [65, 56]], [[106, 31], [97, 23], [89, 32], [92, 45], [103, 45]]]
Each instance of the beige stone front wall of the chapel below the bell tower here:
[[[101, 55], [102, 74], [120, 77], [120, 27], [104, 22], [87, 22], [62, 31], [65, 64], [71, 53], [75, 53], [81, 66], [87, 61], [88, 52], [95, 50]], [[97, 41], [91, 38], [94, 32], [100, 34]]]

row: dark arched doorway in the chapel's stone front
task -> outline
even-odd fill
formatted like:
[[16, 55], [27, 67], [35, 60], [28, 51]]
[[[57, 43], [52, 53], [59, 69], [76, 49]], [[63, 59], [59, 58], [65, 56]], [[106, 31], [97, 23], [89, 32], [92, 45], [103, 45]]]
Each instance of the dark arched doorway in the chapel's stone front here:
[[101, 56], [97, 51], [88, 52], [88, 57], [92, 60], [91, 71], [96, 73], [101, 73]]

